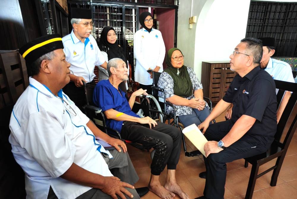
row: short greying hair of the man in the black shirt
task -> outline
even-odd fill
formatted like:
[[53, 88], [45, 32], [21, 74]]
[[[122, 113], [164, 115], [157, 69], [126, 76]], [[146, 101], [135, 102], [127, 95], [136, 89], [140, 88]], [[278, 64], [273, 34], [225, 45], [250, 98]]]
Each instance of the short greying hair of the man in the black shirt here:
[[[241, 42], [246, 43], [247, 48], [245, 49], [245, 53], [254, 57], [253, 62], [255, 64], [260, 64], [260, 61], [263, 56], [263, 44], [262, 41], [256, 38], [244, 38]], [[250, 54], [252, 53], [252, 54]]]

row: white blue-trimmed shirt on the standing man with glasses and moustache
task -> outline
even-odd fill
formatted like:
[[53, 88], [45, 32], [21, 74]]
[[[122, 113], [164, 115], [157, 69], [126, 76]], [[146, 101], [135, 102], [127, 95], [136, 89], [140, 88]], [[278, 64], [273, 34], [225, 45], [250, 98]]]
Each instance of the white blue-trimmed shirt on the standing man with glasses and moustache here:
[[62, 38], [66, 61], [70, 63], [71, 74], [83, 77], [87, 83], [95, 78], [94, 68], [105, 62], [97, 42], [92, 35], [81, 42], [74, 34]]

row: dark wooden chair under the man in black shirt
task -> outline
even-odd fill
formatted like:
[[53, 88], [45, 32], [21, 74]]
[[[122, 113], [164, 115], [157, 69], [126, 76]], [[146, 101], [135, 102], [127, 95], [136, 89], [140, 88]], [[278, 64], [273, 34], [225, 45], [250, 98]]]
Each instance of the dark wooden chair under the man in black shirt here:
[[[297, 127], [297, 83], [290, 83], [285, 81], [274, 80], [276, 88], [279, 89], [277, 93], [277, 102], [279, 104], [282, 100], [282, 97], [285, 91], [293, 92], [287, 106], [277, 124], [277, 132], [274, 136], [274, 142], [271, 144], [270, 149], [263, 154], [259, 154], [253, 157], [245, 158], [244, 166], [247, 167], [248, 163], [252, 164], [251, 175], [249, 177], [249, 184], [247, 187], [247, 193], [245, 195], [246, 199], [251, 199], [253, 196], [253, 191], [255, 188], [257, 178], [263, 176], [269, 171], [273, 170], [270, 185], [275, 186], [277, 184], [277, 177], [279, 175], [279, 171], [282, 167], [282, 163], [284, 161], [287, 149], [292, 140], [294, 132]], [[284, 137], [284, 138], [283, 138]], [[269, 162], [273, 159], [277, 158], [277, 161], [274, 166], [265, 170], [264, 172], [258, 174], [259, 167], [266, 162]]]

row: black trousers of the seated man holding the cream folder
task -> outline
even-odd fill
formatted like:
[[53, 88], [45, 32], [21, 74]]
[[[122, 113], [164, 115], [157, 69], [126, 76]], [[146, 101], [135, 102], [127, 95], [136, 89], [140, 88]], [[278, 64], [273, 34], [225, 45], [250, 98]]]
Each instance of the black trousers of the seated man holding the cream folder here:
[[[209, 125], [206, 139], [219, 141], [230, 131], [232, 124], [230, 120]], [[206, 182], [204, 196], [211, 199], [224, 198], [227, 162], [236, 159], [251, 157], [267, 151], [266, 146], [244, 141], [244, 136], [219, 153], [210, 154], [207, 158], [203, 156], [206, 167]]]

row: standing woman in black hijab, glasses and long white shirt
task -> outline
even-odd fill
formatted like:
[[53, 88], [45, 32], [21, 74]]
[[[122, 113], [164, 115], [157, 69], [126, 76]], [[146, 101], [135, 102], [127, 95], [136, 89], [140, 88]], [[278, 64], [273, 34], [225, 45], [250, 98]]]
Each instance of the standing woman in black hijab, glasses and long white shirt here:
[[139, 23], [143, 28], [135, 33], [133, 41], [136, 58], [135, 81], [139, 82], [140, 88], [146, 89], [146, 92], [151, 94], [153, 84], [151, 71], [163, 71], [165, 45], [161, 32], [153, 28], [151, 13], [141, 13]]

